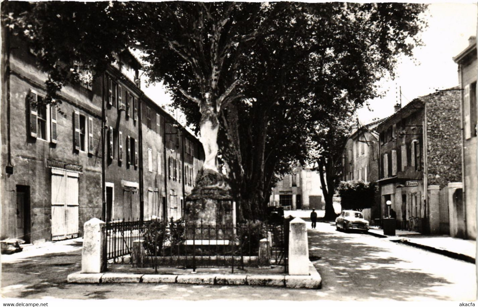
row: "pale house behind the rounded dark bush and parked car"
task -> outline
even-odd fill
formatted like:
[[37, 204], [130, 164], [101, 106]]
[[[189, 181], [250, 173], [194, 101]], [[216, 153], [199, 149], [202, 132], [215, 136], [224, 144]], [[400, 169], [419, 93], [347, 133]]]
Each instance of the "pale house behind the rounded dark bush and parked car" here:
[[[379, 134], [375, 130], [384, 120], [375, 120], [352, 130], [342, 154], [342, 181], [379, 180]], [[375, 202], [375, 206], [362, 212], [369, 221], [380, 218], [380, 199]]]

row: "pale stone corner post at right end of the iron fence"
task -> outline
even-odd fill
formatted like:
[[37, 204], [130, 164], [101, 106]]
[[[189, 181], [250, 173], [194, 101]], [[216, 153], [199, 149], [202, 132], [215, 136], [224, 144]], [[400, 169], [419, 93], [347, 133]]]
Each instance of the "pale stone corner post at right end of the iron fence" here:
[[289, 275], [309, 275], [307, 227], [298, 217], [289, 225]]

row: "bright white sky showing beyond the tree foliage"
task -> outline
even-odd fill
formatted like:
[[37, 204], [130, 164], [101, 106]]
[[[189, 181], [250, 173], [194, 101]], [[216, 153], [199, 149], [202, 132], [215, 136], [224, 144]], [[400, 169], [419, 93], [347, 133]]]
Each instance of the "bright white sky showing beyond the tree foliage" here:
[[[458, 66], [453, 57], [468, 46], [468, 38], [477, 33], [478, 9], [476, 3], [432, 3], [424, 12], [428, 27], [420, 34], [424, 46], [413, 50], [414, 59], [402, 56], [394, 80], [386, 78], [378, 85], [384, 95], [368, 101], [369, 106], [357, 111], [361, 124], [393, 114], [393, 106], [402, 106], [414, 98], [458, 85]], [[166, 109], [185, 125], [185, 118], [168, 105], [171, 97], [161, 84], [143, 90], [153, 101]]]

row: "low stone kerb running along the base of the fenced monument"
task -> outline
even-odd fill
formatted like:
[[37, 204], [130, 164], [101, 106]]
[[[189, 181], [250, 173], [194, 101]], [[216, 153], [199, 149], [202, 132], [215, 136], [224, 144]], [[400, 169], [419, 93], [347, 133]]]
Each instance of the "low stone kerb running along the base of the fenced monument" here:
[[309, 261], [309, 275], [239, 275], [239, 274], [131, 274], [81, 273], [68, 275], [68, 283], [174, 283], [196, 285], [280, 286], [287, 288], [320, 289], [322, 278]]

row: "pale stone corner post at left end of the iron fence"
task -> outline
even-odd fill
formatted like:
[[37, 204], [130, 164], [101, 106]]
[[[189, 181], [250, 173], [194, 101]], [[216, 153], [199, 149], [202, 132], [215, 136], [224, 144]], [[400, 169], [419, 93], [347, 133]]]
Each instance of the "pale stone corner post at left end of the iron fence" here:
[[105, 225], [105, 222], [96, 217], [85, 222], [81, 252], [81, 273], [101, 273], [104, 271], [103, 259], [106, 256], [103, 254]]

